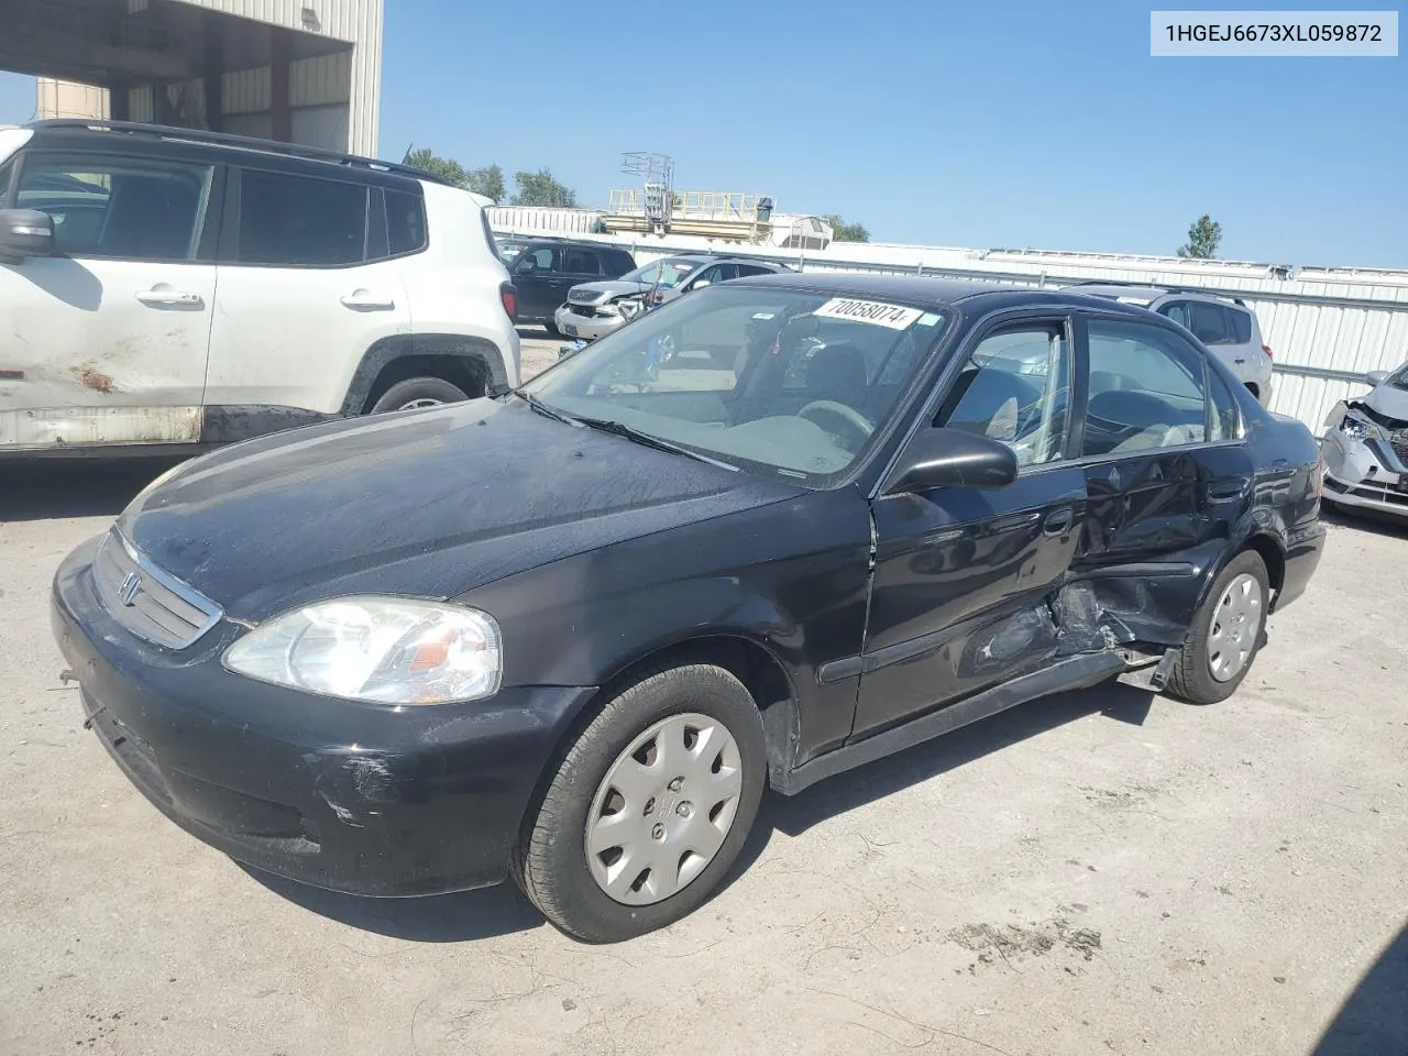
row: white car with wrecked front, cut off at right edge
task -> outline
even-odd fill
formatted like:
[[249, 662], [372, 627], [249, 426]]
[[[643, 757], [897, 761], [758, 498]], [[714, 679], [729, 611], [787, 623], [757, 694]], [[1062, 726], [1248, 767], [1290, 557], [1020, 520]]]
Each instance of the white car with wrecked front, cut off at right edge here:
[[1325, 420], [1325, 500], [1408, 517], [1408, 363], [1369, 382], [1367, 396], [1342, 400]]

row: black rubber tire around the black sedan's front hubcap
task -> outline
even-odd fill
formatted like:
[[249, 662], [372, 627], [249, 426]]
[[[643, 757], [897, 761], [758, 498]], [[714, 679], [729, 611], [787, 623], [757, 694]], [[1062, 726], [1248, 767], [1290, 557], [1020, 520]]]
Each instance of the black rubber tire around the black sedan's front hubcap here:
[[[670, 715], [690, 712], [724, 724], [738, 745], [738, 810], [712, 860], [693, 881], [662, 901], [627, 905], [591, 876], [589, 814], [608, 770], [632, 741]], [[620, 942], [673, 924], [714, 893], [742, 850], [767, 781], [766, 758], [758, 705], [727, 670], [686, 665], [643, 676], [607, 701], [559, 759], [546, 790], [524, 819], [514, 855], [518, 886], [549, 921], [586, 942]]]

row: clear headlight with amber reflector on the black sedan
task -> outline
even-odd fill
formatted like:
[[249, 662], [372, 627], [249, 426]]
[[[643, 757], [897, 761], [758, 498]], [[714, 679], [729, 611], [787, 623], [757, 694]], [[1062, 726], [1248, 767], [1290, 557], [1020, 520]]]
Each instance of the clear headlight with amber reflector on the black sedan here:
[[446, 704], [496, 694], [503, 650], [487, 612], [344, 597], [275, 617], [230, 646], [222, 663], [237, 674], [324, 697]]

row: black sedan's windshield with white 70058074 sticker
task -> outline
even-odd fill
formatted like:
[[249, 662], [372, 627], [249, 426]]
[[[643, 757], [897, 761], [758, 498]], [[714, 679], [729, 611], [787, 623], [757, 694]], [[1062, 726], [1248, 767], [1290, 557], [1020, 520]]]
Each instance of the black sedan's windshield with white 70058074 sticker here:
[[866, 453], [946, 322], [904, 304], [712, 286], [636, 317], [524, 391], [566, 415], [829, 487]]

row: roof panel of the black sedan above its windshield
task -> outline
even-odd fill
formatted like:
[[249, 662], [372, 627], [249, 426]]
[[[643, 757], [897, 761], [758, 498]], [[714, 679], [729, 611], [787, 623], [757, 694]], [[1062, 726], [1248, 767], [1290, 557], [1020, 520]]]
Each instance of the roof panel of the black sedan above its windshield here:
[[924, 279], [912, 275], [776, 272], [773, 275], [735, 279], [729, 286], [777, 286], [845, 297], [891, 300], [925, 308], [964, 306], [986, 313], [1024, 306], [1064, 306], [1145, 315], [1148, 318], [1145, 308], [1119, 304], [1104, 297], [1090, 297], [1070, 289], [1036, 289], [1011, 283], [969, 282], [966, 279]]

